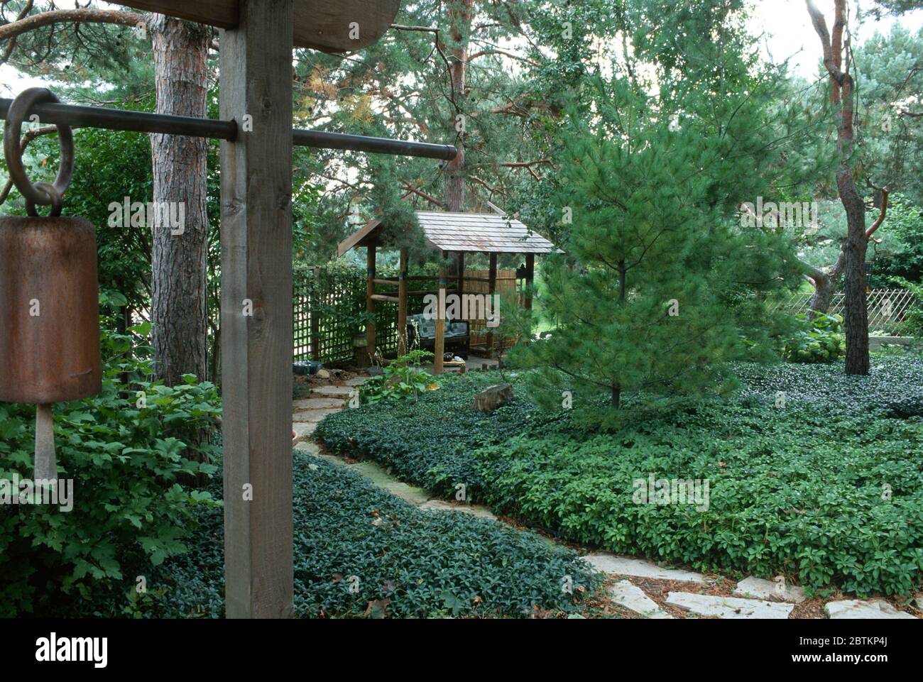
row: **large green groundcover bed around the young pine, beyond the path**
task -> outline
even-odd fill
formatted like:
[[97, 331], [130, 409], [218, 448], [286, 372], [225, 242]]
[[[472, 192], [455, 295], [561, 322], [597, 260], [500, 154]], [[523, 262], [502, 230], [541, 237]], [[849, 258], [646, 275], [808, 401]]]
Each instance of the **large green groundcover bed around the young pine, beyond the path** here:
[[[731, 400], [677, 403], [617, 432], [516, 398], [492, 415], [473, 395], [496, 375], [447, 377], [418, 401], [331, 415], [330, 451], [468, 498], [571, 541], [703, 570], [784, 574], [809, 588], [908, 594], [923, 578], [923, 362], [737, 365]], [[574, 404], [581, 397], [574, 396]], [[638, 504], [635, 482], [708, 481], [708, 509]]]

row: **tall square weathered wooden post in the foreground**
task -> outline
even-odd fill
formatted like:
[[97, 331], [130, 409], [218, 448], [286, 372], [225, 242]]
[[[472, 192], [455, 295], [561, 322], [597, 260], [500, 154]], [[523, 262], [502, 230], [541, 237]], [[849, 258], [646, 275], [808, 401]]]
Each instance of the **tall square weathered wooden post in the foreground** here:
[[[221, 34], [224, 571], [229, 618], [292, 617], [294, 0]], [[241, 123], [251, 116], [252, 129]]]

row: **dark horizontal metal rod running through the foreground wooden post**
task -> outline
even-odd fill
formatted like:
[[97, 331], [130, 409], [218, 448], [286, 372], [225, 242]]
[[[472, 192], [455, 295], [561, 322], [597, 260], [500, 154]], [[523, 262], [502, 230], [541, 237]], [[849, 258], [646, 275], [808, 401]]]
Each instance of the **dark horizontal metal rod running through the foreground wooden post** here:
[[[12, 100], [0, 98], [0, 119], [6, 119], [6, 113], [12, 103]], [[127, 130], [135, 133], [186, 135], [192, 138], [227, 139], [232, 141], [237, 137], [236, 122], [219, 121], [210, 118], [148, 114], [123, 109], [51, 103], [37, 104], [32, 107], [30, 112], [31, 114], [38, 114], [39, 120], [43, 124]], [[415, 156], [444, 161], [451, 161], [458, 154], [458, 150], [452, 145], [410, 142], [402, 139], [367, 138], [362, 135], [347, 135], [299, 128], [293, 129], [293, 135], [294, 144], [298, 147], [369, 151], [375, 154]]]

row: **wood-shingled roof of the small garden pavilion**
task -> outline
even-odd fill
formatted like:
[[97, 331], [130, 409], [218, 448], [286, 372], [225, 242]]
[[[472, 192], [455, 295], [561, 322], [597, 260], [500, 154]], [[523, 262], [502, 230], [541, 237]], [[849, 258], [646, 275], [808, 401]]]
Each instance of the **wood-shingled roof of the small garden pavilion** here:
[[[416, 211], [426, 244], [440, 251], [465, 251], [494, 254], [547, 254], [555, 245], [509, 216], [497, 213], [445, 213]], [[337, 249], [340, 256], [355, 246], [374, 245], [378, 234], [387, 229], [381, 221], [369, 221], [365, 227], [344, 239]]]

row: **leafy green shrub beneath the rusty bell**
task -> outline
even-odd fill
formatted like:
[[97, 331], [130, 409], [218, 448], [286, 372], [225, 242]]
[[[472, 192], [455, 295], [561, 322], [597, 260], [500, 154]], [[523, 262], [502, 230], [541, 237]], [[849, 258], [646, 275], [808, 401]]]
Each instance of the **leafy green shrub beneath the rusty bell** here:
[[[58, 476], [74, 480], [74, 506], [4, 509], [0, 615], [45, 613], [105, 587], [124, 594], [137, 575], [186, 551], [194, 507], [217, 504], [187, 485], [216, 471], [214, 448], [175, 436], [214, 427], [217, 391], [196, 377], [175, 388], [151, 381], [150, 361], [138, 357], [149, 351], [133, 341], [146, 327], [103, 332], [102, 393], [55, 406]], [[32, 477], [34, 418], [29, 405], [0, 404], [0, 478]], [[168, 425], [174, 437], [162, 437]]]

